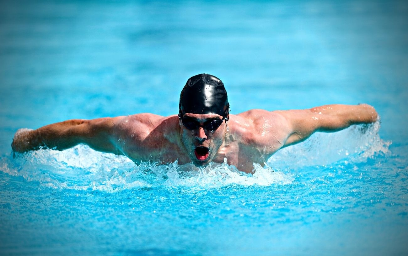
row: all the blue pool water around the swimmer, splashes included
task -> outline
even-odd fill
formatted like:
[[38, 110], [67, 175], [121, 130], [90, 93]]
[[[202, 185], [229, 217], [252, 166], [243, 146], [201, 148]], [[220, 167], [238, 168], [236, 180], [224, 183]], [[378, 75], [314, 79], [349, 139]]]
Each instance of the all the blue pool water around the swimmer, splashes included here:
[[[407, 255], [405, 1], [16, 1], [0, 9], [1, 255]], [[231, 113], [368, 103], [255, 166], [136, 166], [18, 128], [177, 113], [188, 77]]]

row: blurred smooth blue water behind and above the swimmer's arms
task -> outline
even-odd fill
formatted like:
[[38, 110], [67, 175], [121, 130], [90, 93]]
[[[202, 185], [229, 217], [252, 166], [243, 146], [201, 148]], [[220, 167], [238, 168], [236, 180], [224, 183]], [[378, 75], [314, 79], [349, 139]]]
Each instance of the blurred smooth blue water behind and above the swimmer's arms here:
[[175, 114], [182, 86], [197, 73], [223, 80], [232, 113], [366, 102], [392, 136], [408, 119], [407, 8], [405, 1], [2, 1], [1, 142], [9, 144], [16, 128], [64, 119]]

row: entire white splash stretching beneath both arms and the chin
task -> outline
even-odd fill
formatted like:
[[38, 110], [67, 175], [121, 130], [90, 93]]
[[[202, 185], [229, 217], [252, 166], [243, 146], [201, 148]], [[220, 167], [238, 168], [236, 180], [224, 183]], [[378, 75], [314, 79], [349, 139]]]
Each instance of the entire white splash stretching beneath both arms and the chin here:
[[161, 186], [191, 190], [229, 185], [287, 185], [294, 181], [291, 172], [302, 166], [325, 165], [341, 159], [358, 163], [377, 154], [387, 154], [390, 142], [382, 141], [378, 130], [379, 122], [376, 122], [335, 133], [315, 133], [307, 141], [277, 152], [265, 167], [254, 164], [254, 174], [240, 172], [229, 166], [226, 159], [222, 164], [211, 163], [205, 168], [179, 165], [177, 161], [166, 165], [151, 162], [135, 165], [124, 156], [96, 152], [84, 145], [64, 151], [6, 155], [0, 160], [0, 170], [55, 189], [109, 193]]

